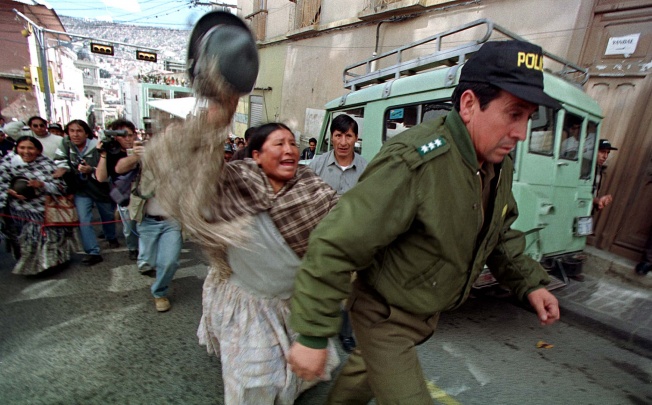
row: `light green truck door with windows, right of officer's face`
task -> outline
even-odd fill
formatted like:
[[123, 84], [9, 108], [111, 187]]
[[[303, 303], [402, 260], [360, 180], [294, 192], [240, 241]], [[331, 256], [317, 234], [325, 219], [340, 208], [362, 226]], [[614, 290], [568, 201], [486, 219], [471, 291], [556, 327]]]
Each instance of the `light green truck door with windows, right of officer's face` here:
[[536, 244], [536, 256], [583, 249], [596, 136], [597, 124], [579, 113], [540, 107], [533, 116], [524, 153], [517, 154], [514, 227], [526, 232], [528, 245]]

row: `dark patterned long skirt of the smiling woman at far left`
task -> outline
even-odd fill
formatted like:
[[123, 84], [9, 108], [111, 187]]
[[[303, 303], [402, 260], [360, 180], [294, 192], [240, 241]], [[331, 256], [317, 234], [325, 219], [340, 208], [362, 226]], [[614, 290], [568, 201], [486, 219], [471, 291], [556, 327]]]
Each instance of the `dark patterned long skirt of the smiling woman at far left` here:
[[14, 274], [34, 275], [70, 261], [79, 249], [76, 227], [43, 227], [43, 214], [10, 210], [8, 243], [13, 243], [18, 261]]

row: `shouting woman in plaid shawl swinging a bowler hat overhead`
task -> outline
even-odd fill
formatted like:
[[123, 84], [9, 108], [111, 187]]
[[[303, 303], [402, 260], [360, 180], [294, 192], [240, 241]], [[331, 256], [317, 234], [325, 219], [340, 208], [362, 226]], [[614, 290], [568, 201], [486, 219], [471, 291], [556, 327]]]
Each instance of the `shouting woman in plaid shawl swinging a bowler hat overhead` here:
[[[210, 259], [197, 335], [220, 357], [224, 403], [292, 404], [311, 385], [286, 360], [295, 337], [288, 326], [294, 275], [337, 194], [299, 166], [294, 134], [281, 123], [256, 130], [249, 158], [224, 161], [228, 125], [258, 72], [255, 41], [238, 17], [202, 17], [188, 59], [195, 94], [208, 108], [155, 138], [144, 164], [160, 204]], [[339, 362], [333, 344], [330, 354], [328, 371]]]

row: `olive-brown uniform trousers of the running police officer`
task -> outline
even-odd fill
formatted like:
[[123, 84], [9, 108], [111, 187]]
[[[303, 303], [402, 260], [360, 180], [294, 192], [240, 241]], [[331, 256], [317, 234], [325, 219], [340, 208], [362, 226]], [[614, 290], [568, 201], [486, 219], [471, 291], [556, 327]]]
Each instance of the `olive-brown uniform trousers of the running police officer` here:
[[439, 313], [417, 316], [388, 305], [360, 280], [349, 297], [358, 347], [342, 368], [329, 404], [432, 404], [416, 346], [434, 332]]

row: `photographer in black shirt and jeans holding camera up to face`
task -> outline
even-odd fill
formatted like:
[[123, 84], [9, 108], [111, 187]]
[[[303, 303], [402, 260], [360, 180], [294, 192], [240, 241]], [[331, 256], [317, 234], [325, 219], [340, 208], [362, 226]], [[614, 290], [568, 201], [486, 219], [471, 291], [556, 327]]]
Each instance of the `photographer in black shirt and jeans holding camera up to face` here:
[[131, 183], [138, 175], [138, 157], [133, 152], [136, 138], [136, 126], [128, 120], [118, 119], [104, 131], [104, 137], [98, 143], [100, 161], [95, 169], [98, 181], [109, 181], [110, 195], [118, 204], [118, 212], [122, 219], [122, 233], [129, 249], [129, 259], [138, 259], [138, 234], [136, 222], [129, 216], [129, 196]]

